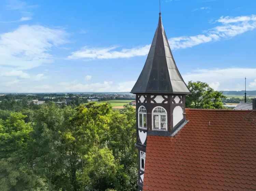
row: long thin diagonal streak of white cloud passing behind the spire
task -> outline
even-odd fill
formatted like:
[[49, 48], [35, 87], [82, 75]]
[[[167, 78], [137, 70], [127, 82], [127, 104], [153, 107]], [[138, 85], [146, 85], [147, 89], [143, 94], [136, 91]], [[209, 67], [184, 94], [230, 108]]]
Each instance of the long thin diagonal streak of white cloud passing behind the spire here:
[[[195, 36], [180, 36], [169, 39], [172, 50], [194, 47], [200, 44], [222, 40], [237, 36], [256, 29], [256, 15], [240, 17], [221, 17], [215, 21], [216, 27], [209, 29], [206, 33]], [[120, 49], [118, 47], [90, 48], [83, 47], [81, 50], [74, 51], [68, 56], [68, 59], [114, 59], [130, 58], [134, 56], [145, 56], [148, 54], [150, 45], [132, 48]]]

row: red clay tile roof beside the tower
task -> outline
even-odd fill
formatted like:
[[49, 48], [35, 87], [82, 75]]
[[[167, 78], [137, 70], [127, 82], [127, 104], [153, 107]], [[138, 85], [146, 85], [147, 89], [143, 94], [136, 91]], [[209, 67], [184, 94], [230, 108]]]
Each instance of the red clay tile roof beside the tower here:
[[186, 113], [174, 137], [147, 137], [143, 190], [255, 191], [256, 111]]

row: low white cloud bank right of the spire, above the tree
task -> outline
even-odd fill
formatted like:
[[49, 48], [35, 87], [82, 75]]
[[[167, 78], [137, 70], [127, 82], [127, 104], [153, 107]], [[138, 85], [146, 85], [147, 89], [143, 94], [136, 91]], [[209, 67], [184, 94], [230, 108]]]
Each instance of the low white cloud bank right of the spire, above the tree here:
[[[188, 81], [201, 81], [208, 83], [215, 90], [241, 90], [244, 89], [244, 77], [248, 82], [255, 79], [256, 68], [225, 68], [225, 69], [204, 69], [194, 70], [183, 74], [183, 79]], [[249, 87], [255, 90], [255, 82], [251, 82]], [[253, 89], [254, 88], [254, 89]]]

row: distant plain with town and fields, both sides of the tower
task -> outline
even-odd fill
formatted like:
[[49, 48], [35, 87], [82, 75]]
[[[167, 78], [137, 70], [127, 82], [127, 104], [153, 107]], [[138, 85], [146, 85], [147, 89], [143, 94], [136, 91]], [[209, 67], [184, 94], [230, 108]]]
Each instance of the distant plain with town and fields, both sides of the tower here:
[[[233, 109], [244, 101], [244, 91], [222, 91], [226, 98], [224, 106]], [[247, 91], [247, 102], [256, 97], [256, 91]], [[136, 105], [135, 95], [130, 92], [63, 92], [63, 93], [0, 93], [0, 103], [15, 101], [23, 104], [42, 105], [54, 102], [57, 105], [78, 106], [88, 102], [108, 102], [113, 109], [122, 109], [124, 105]], [[3, 105], [3, 103], [1, 103]]]

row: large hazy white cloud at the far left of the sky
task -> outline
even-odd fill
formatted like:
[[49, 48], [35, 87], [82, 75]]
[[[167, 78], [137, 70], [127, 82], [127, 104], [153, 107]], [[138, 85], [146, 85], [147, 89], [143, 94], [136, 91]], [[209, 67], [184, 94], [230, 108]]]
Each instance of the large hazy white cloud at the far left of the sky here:
[[66, 42], [66, 32], [40, 25], [22, 25], [0, 34], [0, 65], [15, 70], [31, 69], [52, 62], [51, 49]]

